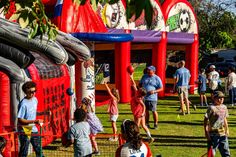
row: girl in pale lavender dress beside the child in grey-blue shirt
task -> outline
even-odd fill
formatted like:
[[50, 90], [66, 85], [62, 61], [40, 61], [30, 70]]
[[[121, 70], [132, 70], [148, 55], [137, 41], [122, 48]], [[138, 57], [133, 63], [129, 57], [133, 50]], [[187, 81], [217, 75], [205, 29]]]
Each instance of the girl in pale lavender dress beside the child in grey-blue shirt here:
[[98, 145], [96, 142], [96, 134], [103, 131], [103, 126], [96, 116], [93, 107], [91, 106], [92, 101], [88, 98], [83, 98], [82, 100], [82, 109], [84, 109], [87, 112], [87, 122], [90, 125], [91, 134], [90, 139], [92, 142], [92, 146], [94, 148], [94, 155], [100, 155], [100, 152], [98, 150]]

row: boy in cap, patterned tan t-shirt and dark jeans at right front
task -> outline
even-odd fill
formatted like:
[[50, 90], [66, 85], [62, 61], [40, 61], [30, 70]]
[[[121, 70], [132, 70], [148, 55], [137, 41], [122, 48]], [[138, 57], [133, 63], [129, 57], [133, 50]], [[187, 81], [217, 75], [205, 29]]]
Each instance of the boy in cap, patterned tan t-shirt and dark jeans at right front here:
[[[223, 104], [224, 94], [221, 91], [213, 93], [213, 105], [209, 106], [204, 118], [204, 130], [207, 138], [208, 150], [212, 148], [215, 156], [218, 148], [221, 156], [229, 157], [229, 128], [227, 107]], [[209, 152], [209, 151], [208, 151]], [[209, 152], [211, 153], [211, 152]]]

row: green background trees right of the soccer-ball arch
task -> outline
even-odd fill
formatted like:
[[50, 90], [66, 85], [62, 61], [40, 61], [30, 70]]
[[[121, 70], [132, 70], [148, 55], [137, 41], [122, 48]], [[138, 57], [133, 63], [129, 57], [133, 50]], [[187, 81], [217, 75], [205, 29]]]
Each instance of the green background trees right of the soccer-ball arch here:
[[236, 2], [192, 0], [199, 23], [200, 53], [236, 47]]

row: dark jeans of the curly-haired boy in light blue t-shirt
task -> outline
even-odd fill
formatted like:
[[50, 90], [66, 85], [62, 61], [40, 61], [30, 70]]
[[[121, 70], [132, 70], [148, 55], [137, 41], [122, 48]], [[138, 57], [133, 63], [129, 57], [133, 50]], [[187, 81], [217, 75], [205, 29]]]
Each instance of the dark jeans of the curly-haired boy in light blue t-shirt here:
[[34, 132], [31, 134], [30, 140], [28, 139], [27, 135], [20, 134], [19, 140], [20, 140], [20, 151], [19, 151], [19, 157], [27, 157], [28, 155], [28, 149], [29, 149], [29, 143], [32, 144], [36, 157], [40, 157], [40, 136], [37, 136], [38, 132]]

